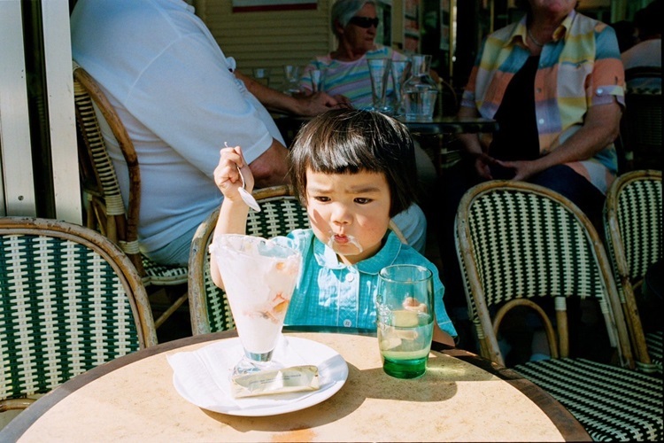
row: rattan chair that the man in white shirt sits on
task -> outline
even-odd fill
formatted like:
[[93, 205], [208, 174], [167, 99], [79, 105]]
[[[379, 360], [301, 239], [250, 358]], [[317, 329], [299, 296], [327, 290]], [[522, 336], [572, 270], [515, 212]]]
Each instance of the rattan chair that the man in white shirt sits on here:
[[[83, 193], [87, 199], [86, 226], [98, 229], [105, 237], [120, 245], [134, 263], [146, 286], [174, 286], [187, 283], [187, 268], [155, 263], [140, 252], [138, 222], [141, 205], [141, 168], [134, 144], [127, 135], [120, 117], [95, 80], [75, 62], [73, 64], [73, 96], [76, 120], [82, 138], [79, 144], [79, 171]], [[99, 119], [99, 115], [103, 116]], [[111, 131], [118, 141], [127, 164], [129, 177], [128, 205], [120, 194], [115, 167], [106, 151], [102, 128]], [[155, 322], [159, 328], [178, 307], [187, 301], [180, 295]]]

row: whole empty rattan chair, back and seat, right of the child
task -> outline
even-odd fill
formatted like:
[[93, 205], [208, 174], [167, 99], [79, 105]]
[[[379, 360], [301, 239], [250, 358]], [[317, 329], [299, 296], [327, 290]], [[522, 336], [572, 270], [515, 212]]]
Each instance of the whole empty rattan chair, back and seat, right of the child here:
[[[662, 380], [631, 368], [627, 326], [606, 251], [567, 198], [530, 183], [468, 190], [456, 218], [459, 264], [481, 354], [505, 365], [501, 321], [513, 307], [539, 315], [551, 358], [512, 369], [549, 392], [595, 440], [661, 440]], [[567, 299], [595, 300], [620, 366], [570, 356]], [[555, 320], [540, 304], [555, 300]], [[622, 367], [621, 367], [622, 366]]]

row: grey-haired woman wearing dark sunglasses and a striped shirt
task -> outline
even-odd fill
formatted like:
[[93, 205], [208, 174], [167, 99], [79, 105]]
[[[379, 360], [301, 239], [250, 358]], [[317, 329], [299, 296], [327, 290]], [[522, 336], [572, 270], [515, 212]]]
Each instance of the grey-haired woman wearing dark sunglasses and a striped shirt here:
[[[379, 19], [374, 0], [337, 0], [332, 6], [330, 25], [339, 42], [335, 51], [314, 58], [305, 67], [300, 90], [311, 94], [313, 70], [322, 73], [321, 91], [330, 96], [347, 97], [351, 105], [367, 109], [371, 102], [371, 80], [367, 58], [406, 57], [387, 46], [374, 43]], [[388, 85], [388, 96], [392, 86]]]

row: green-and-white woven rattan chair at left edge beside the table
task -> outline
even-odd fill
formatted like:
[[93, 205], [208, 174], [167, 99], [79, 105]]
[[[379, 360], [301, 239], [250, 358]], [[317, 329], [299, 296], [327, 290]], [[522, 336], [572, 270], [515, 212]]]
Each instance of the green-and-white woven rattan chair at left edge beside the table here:
[[157, 344], [141, 277], [97, 232], [0, 218], [0, 412]]

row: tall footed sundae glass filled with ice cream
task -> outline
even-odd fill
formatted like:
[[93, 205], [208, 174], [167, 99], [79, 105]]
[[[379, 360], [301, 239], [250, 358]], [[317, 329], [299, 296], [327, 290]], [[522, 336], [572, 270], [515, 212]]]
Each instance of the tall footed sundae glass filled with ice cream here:
[[278, 369], [272, 353], [282, 333], [301, 268], [301, 254], [286, 237], [225, 234], [210, 247], [224, 282], [244, 356], [233, 377]]

